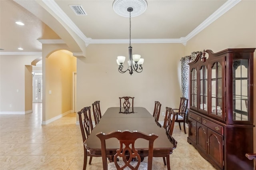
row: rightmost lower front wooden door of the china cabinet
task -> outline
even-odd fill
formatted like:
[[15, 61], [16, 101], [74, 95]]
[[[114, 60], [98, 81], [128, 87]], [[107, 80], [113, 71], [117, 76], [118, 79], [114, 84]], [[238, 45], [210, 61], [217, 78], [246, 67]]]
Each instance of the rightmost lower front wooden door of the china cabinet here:
[[[207, 155], [222, 169], [223, 167], [223, 144], [222, 136], [211, 129], [207, 129], [208, 151]], [[235, 149], [235, 148], [234, 148]]]

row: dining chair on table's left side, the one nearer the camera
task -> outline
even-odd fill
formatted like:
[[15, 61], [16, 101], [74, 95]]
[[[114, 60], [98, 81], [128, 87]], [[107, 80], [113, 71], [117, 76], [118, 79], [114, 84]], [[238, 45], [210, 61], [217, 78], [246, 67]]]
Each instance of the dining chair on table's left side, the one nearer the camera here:
[[[84, 121], [82, 121], [82, 115], [84, 115]], [[91, 118], [91, 107], [84, 107], [81, 111], [78, 111], [79, 124], [82, 132], [83, 143], [88, 138], [90, 133], [92, 132], [92, 118]], [[89, 164], [92, 163], [92, 156], [87, 151], [84, 146], [84, 167], [83, 170], [86, 170], [87, 166], [87, 156], [90, 156]]]

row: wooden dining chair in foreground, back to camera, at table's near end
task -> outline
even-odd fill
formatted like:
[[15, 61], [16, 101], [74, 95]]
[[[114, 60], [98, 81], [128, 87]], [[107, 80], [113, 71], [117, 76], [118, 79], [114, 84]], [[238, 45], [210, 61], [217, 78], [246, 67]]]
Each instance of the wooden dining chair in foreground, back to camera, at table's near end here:
[[[96, 134], [101, 141], [101, 155], [102, 155], [102, 163], [103, 170], [123, 170], [132, 169], [132, 170], [152, 170], [152, 157], [153, 157], [153, 143], [156, 138], [158, 138], [155, 134], [144, 134], [139, 131], [113, 131], [108, 134], [104, 134], [103, 132]], [[116, 154], [114, 155], [114, 162], [107, 163], [106, 157], [106, 140], [109, 138], [117, 138], [120, 143], [120, 148], [116, 150]], [[138, 154], [138, 150], [136, 150], [134, 144], [138, 138], [143, 138], [148, 140], [148, 163], [141, 162], [141, 157]], [[130, 147], [131, 146], [131, 147]], [[128, 160], [126, 160], [127, 155], [129, 156]], [[117, 161], [117, 158], [122, 158]], [[136, 159], [136, 161], [132, 161]]]

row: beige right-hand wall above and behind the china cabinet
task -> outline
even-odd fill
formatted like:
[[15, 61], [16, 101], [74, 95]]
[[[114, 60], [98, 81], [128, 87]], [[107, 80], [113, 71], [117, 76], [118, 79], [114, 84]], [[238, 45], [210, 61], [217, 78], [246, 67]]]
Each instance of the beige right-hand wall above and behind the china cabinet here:
[[[191, 51], [211, 49], [214, 52], [226, 48], [256, 47], [256, 1], [242, 0], [218, 20], [202, 30], [186, 45], [186, 55]], [[256, 51], [254, 52], [254, 125], [256, 125]], [[254, 127], [254, 152], [256, 152], [256, 128]]]

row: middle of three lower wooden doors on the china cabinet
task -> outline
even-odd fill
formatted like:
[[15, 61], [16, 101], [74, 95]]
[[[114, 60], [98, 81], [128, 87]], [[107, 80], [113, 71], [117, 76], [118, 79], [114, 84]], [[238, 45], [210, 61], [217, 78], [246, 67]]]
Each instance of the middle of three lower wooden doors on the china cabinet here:
[[207, 151], [207, 127], [197, 122], [197, 146], [206, 153]]

